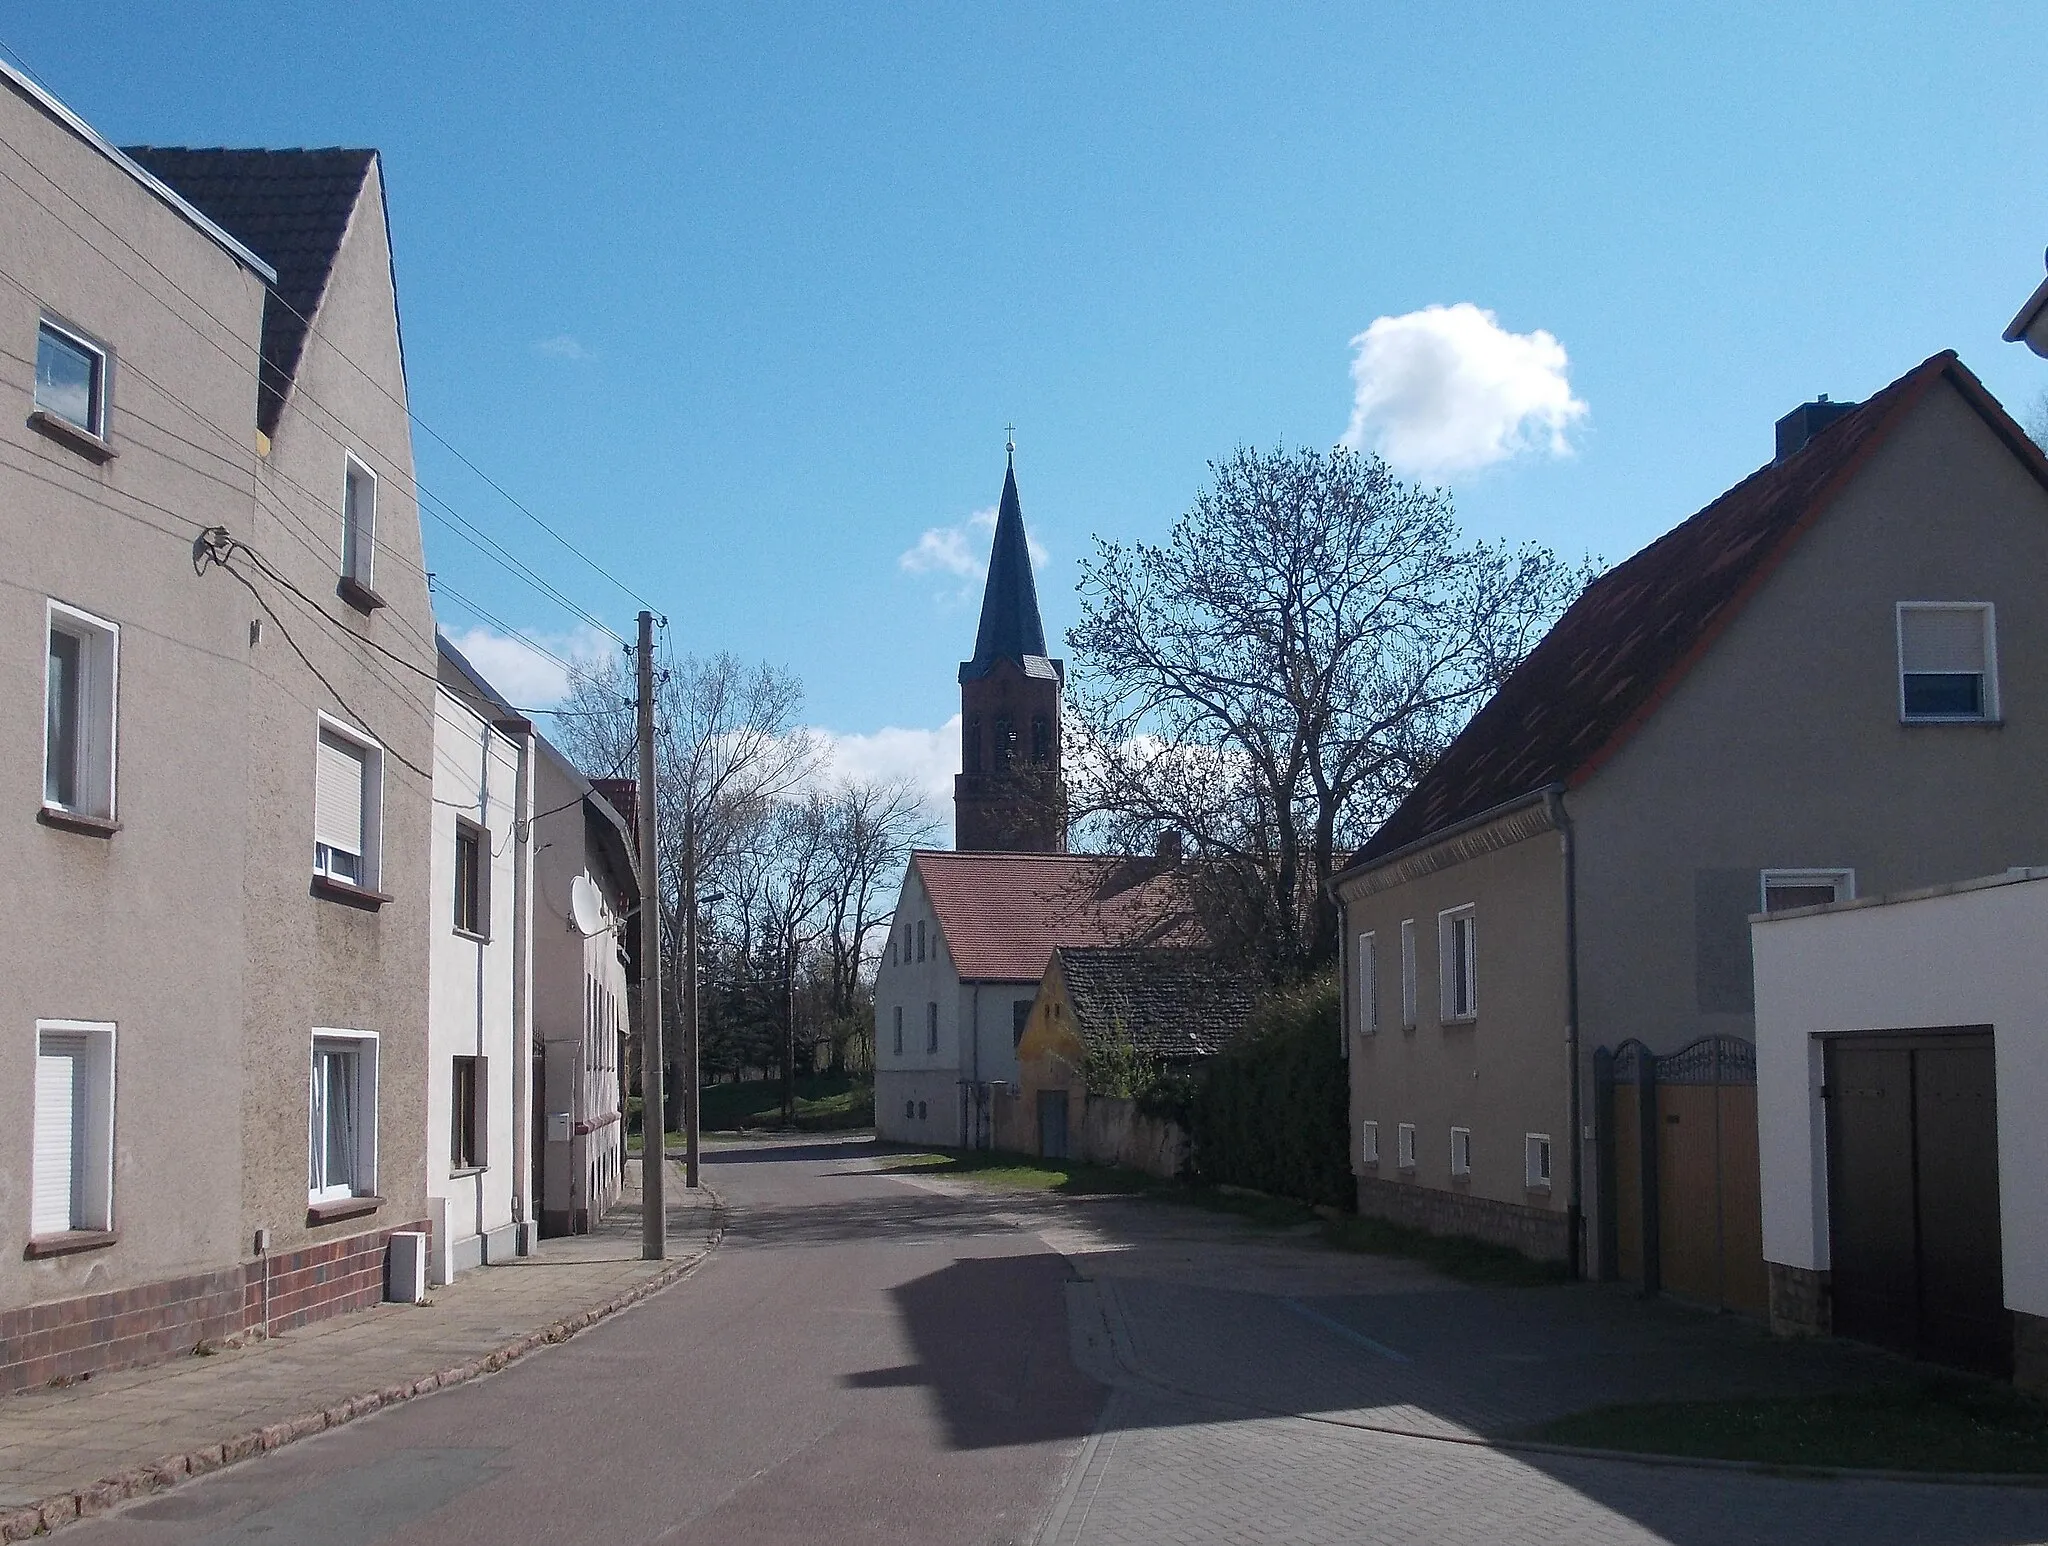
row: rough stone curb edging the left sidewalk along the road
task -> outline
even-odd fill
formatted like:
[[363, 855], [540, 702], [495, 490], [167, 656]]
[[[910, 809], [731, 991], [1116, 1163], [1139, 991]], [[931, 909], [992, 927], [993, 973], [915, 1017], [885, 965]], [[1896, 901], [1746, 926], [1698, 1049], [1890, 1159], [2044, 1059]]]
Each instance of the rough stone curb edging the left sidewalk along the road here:
[[725, 1237], [725, 1200], [713, 1192], [709, 1186], [702, 1192], [711, 1198], [711, 1229], [705, 1231], [702, 1249], [690, 1253], [682, 1261], [676, 1261], [653, 1278], [633, 1284], [621, 1294], [604, 1300], [575, 1315], [565, 1315], [539, 1331], [528, 1331], [522, 1337], [514, 1337], [502, 1347], [494, 1347], [487, 1354], [471, 1358], [453, 1368], [444, 1368], [438, 1374], [424, 1374], [410, 1384], [387, 1384], [383, 1390], [367, 1390], [356, 1397], [344, 1397], [342, 1401], [330, 1403], [315, 1411], [299, 1413], [283, 1423], [264, 1423], [262, 1427], [250, 1429], [246, 1433], [236, 1433], [219, 1444], [205, 1444], [197, 1450], [184, 1454], [166, 1454], [150, 1460], [141, 1466], [129, 1466], [127, 1470], [117, 1470], [113, 1476], [102, 1476], [86, 1487], [72, 1489], [70, 1493], [55, 1493], [39, 1503], [23, 1503], [14, 1509], [0, 1513], [0, 1542], [12, 1540], [33, 1540], [37, 1536], [47, 1536], [59, 1526], [68, 1526], [76, 1519], [92, 1519], [94, 1515], [106, 1513], [109, 1509], [127, 1503], [135, 1497], [147, 1497], [150, 1493], [162, 1493], [176, 1487], [182, 1480], [205, 1476], [209, 1472], [231, 1466], [250, 1456], [268, 1454], [297, 1440], [311, 1437], [313, 1433], [324, 1433], [332, 1427], [342, 1427], [356, 1417], [369, 1417], [385, 1407], [395, 1407], [401, 1401], [414, 1397], [426, 1397], [434, 1390], [446, 1390], [455, 1384], [467, 1384], [469, 1380], [481, 1378], [485, 1374], [496, 1374], [498, 1370], [516, 1364], [526, 1354], [539, 1351], [541, 1347], [555, 1347], [569, 1341], [580, 1331], [588, 1331], [598, 1321], [606, 1321], [618, 1311], [631, 1308], [643, 1298], [659, 1294], [664, 1288], [688, 1278], [719, 1249]]

